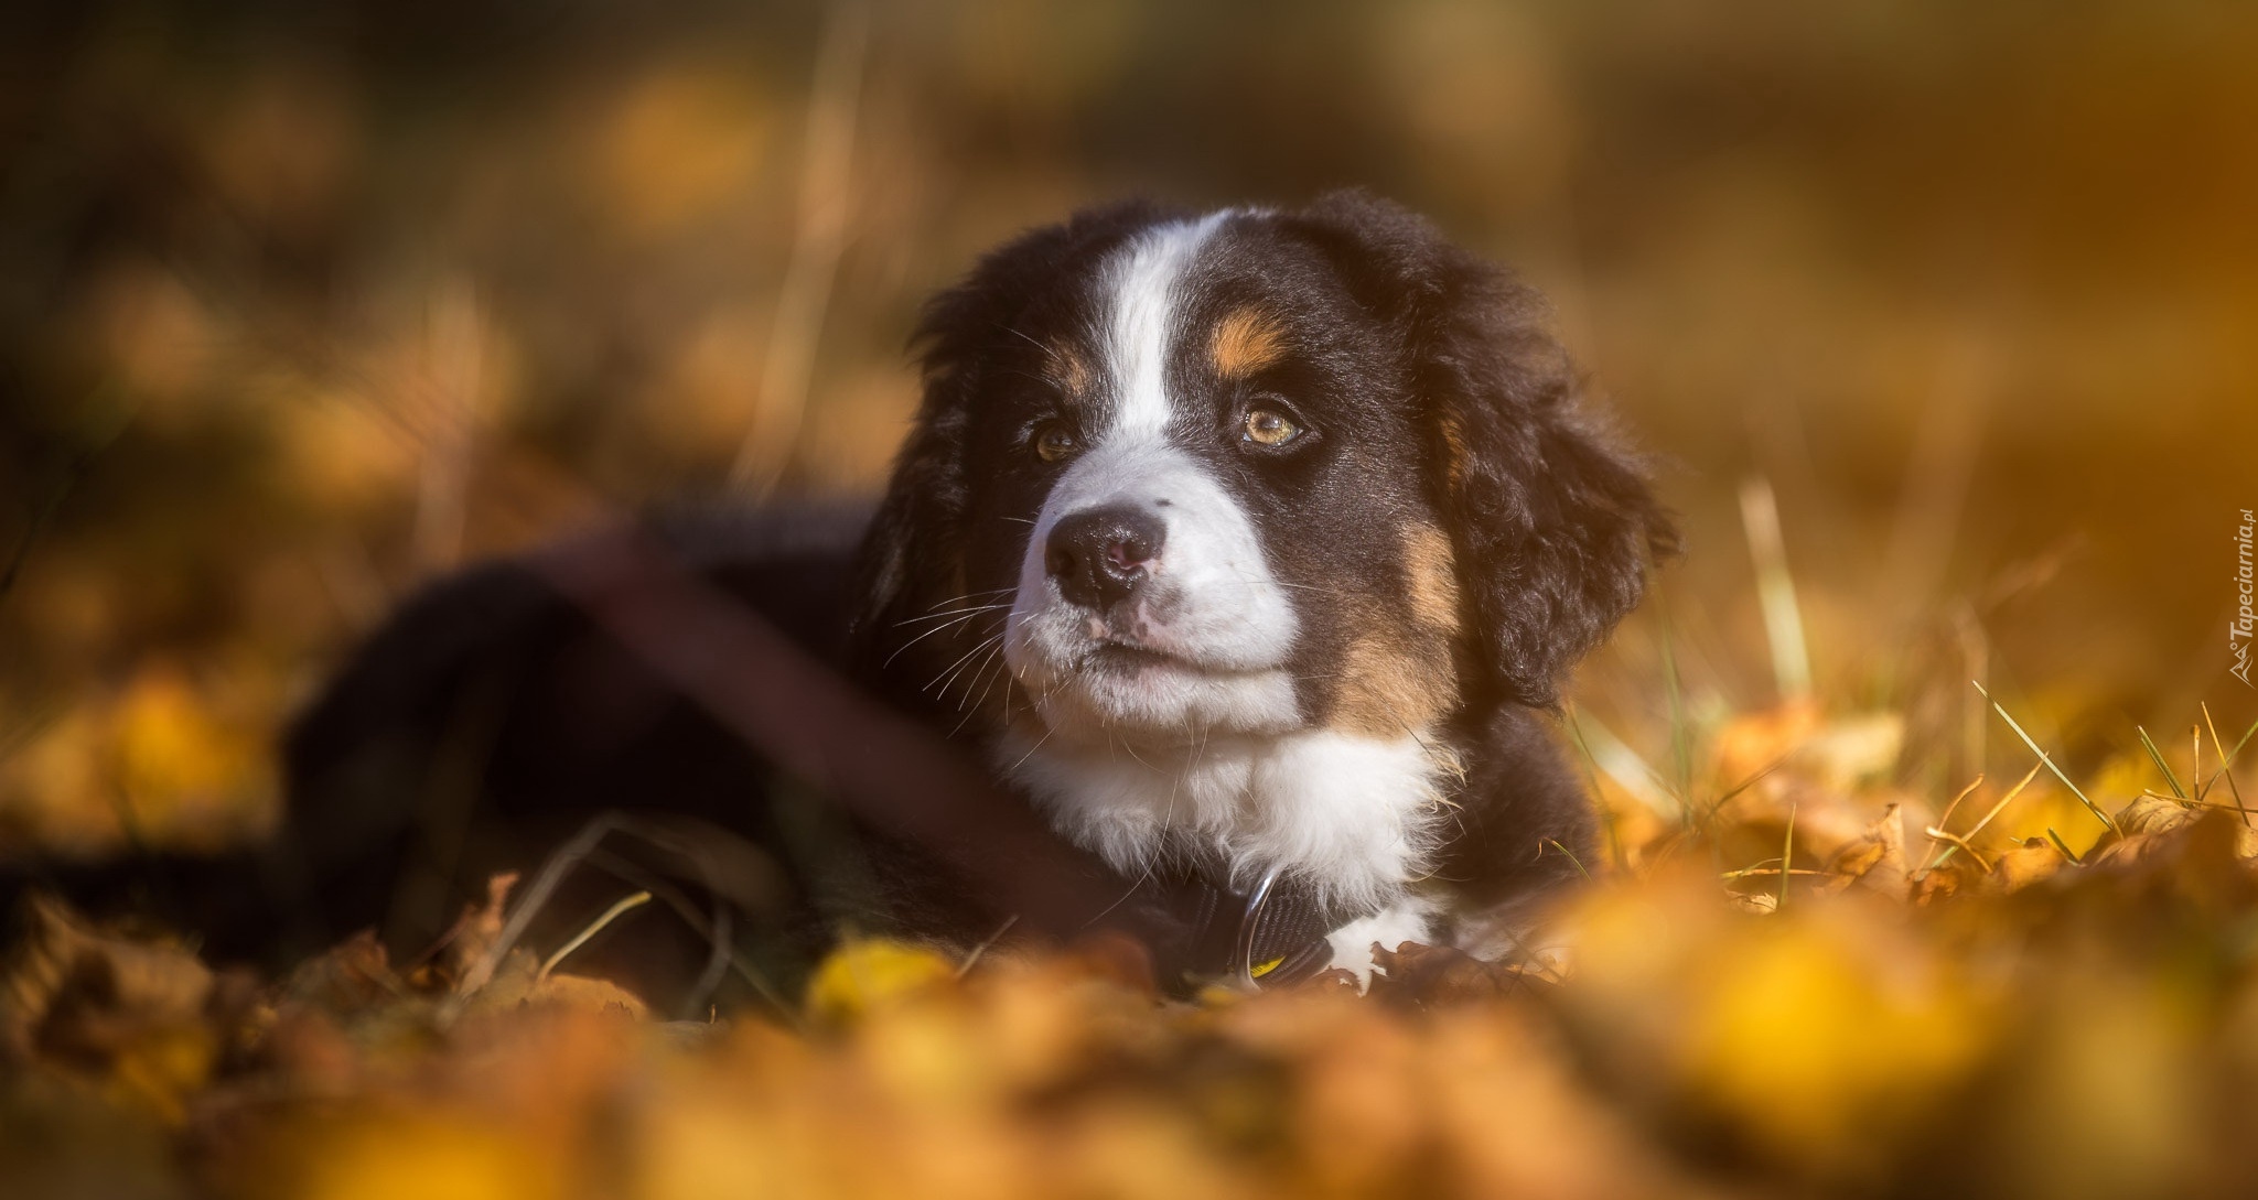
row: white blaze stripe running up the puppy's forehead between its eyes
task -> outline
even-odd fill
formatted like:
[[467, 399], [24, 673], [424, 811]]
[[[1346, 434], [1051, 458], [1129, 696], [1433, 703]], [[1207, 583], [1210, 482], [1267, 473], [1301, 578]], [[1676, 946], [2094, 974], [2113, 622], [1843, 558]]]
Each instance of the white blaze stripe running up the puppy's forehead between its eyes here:
[[1167, 350], [1181, 302], [1179, 282], [1199, 248], [1231, 217], [1210, 212], [1138, 235], [1106, 268], [1106, 370], [1113, 374], [1113, 413], [1100, 435], [1158, 438], [1167, 429]]

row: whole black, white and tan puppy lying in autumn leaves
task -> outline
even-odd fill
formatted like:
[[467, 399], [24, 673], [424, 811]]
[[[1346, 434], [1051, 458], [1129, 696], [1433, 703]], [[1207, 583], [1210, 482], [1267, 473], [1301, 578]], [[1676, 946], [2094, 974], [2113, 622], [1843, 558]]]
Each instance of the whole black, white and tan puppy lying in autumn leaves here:
[[1531, 905], [1594, 862], [1544, 713], [1675, 544], [1540, 298], [1357, 192], [1131, 203], [994, 250], [917, 345], [924, 402], [874, 517], [653, 519], [639, 562], [946, 738], [1095, 900], [989, 886], [1039, 850], [951, 839], [973, 819], [899, 774], [865, 787], [887, 803], [824, 794], [899, 735], [795, 733], [802, 692], [849, 713], [808, 663], [763, 695], [781, 659], [725, 656], [734, 636], [637, 600], [648, 573], [567, 546], [440, 582], [307, 711], [255, 871], [287, 882], [269, 909], [415, 952], [485, 873], [621, 812], [641, 857], [589, 855], [616, 877], [546, 900], [553, 941], [619, 880], [691, 880], [677, 970], [648, 920], [612, 968], [695, 974], [691, 1006], [704, 943], [788, 972], [840, 927], [973, 947], [1104, 925], [1165, 986], [1362, 977], [1375, 943], [1520, 952]]

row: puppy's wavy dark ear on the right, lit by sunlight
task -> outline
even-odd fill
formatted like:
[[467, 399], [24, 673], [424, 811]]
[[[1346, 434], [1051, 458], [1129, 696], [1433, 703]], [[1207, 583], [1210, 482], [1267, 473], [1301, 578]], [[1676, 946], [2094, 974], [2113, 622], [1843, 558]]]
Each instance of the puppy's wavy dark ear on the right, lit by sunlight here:
[[1639, 458], [1583, 404], [1533, 289], [1362, 192], [1292, 221], [1407, 347], [1488, 672], [1515, 702], [1558, 704], [1567, 668], [1644, 595], [1648, 557], [1678, 548]]

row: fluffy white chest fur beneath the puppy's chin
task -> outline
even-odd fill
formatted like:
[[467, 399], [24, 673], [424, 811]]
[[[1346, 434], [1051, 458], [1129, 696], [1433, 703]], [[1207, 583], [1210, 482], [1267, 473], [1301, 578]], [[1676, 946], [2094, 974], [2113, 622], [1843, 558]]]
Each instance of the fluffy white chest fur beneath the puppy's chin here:
[[1052, 828], [1115, 871], [1138, 875], [1165, 846], [1197, 846], [1231, 864], [1235, 886], [1287, 868], [1323, 900], [1373, 911], [1425, 875], [1447, 771], [1432, 742], [1334, 731], [1161, 751], [1014, 733], [998, 762]]

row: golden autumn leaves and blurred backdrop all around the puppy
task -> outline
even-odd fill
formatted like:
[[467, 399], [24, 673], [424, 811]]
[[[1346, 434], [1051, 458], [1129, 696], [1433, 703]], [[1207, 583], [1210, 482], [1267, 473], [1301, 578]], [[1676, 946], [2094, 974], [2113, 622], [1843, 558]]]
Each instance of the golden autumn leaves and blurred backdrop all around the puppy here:
[[[2258, 717], [2226, 670], [2253, 54], [2258, 7], [2199, 0], [32, 5], [0, 18], [0, 859], [260, 837], [275, 731], [463, 562], [677, 498], [872, 492], [919, 302], [1016, 230], [1364, 185], [1551, 295], [1687, 528], [1569, 706], [1614, 882], [1563, 934], [1558, 1022], [1154, 1015], [1073, 968], [960, 988], [892, 950], [919, 986], [833, 963], [808, 1013], [835, 1029], [702, 1056], [603, 1004], [445, 1053], [251, 1022], [339, 1103], [201, 1141], [210, 1177], [2217, 1184], [2202, 1146], [2249, 1132], [2258, 1078], [2220, 932], [2249, 835], [2161, 796], [2233, 787]], [[2120, 891], [2064, 882], [2095, 853]], [[178, 970], [93, 1083], [0, 1096], [149, 1195], [167, 1139], [221, 1121], [194, 1096], [235, 1008]]]

